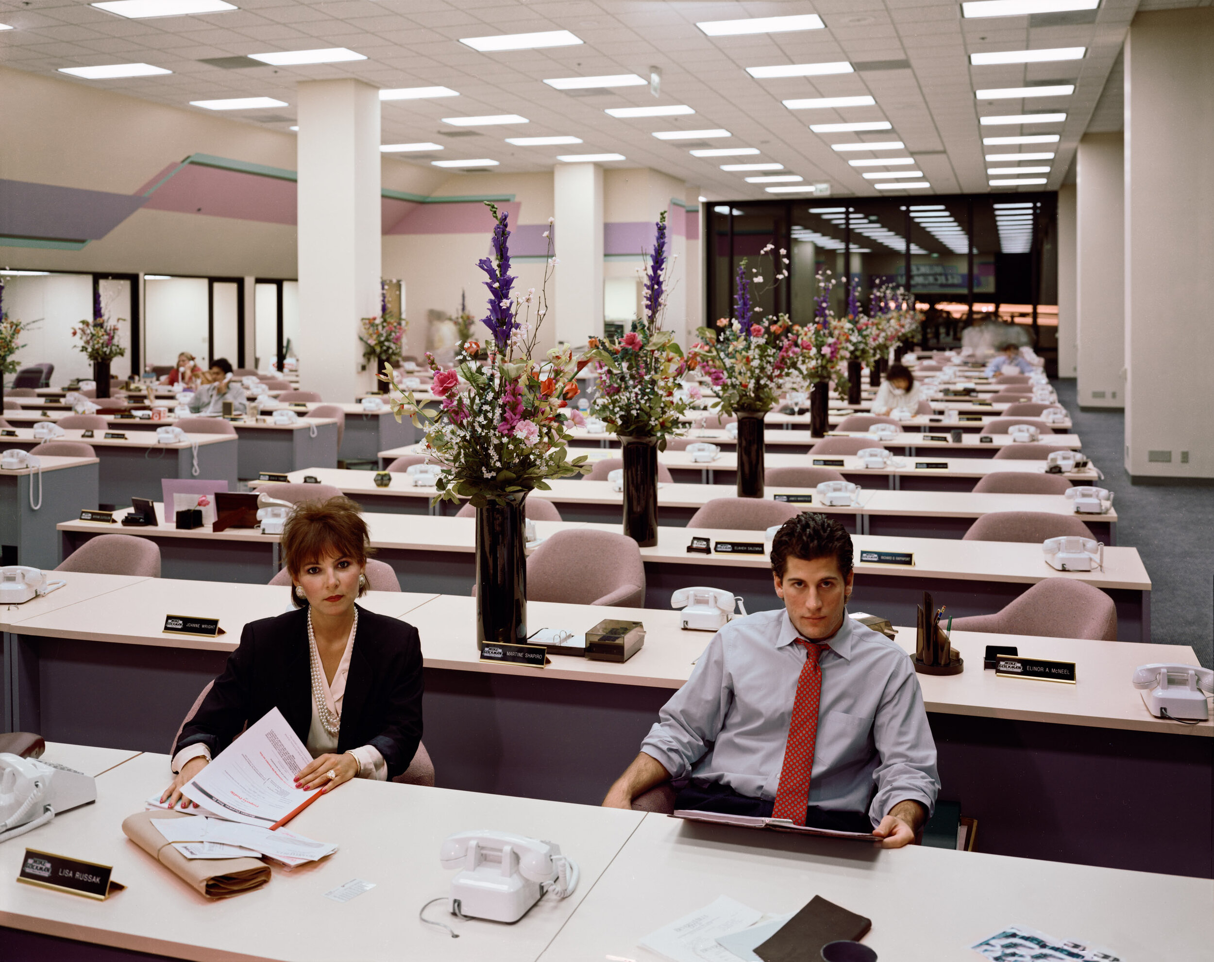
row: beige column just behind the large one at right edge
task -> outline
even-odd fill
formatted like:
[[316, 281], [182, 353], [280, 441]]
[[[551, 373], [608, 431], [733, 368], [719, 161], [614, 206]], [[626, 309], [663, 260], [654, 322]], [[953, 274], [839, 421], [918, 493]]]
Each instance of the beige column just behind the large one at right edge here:
[[[1076, 352], [1080, 408], [1125, 406], [1122, 377], [1125, 366], [1123, 156], [1121, 132], [1088, 133], [1079, 141], [1076, 159]], [[1060, 357], [1061, 341], [1060, 328]], [[1061, 375], [1061, 365], [1059, 368]]]

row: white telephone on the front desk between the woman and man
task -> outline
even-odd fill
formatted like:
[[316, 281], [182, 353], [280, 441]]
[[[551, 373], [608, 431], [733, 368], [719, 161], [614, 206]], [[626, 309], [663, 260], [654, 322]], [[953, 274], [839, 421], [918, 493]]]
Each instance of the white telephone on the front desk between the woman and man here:
[[459, 869], [452, 880], [452, 913], [493, 922], [517, 922], [544, 894], [567, 899], [580, 875], [555, 842], [512, 832], [456, 832], [443, 842], [438, 861]]

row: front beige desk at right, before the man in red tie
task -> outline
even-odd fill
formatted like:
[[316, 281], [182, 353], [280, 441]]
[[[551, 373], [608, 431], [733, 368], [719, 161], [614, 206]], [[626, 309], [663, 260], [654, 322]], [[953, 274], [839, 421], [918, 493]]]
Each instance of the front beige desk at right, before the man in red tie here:
[[[926, 893], [947, 910], [926, 910], [915, 898]], [[1209, 880], [938, 848], [885, 852], [651, 814], [540, 958], [653, 962], [659, 956], [637, 941], [719, 895], [773, 915], [821, 895], [872, 918], [864, 944], [898, 962], [971, 962], [980, 956], [969, 946], [1009, 924], [1085, 939], [1123, 960], [1197, 962], [1214, 939]]]

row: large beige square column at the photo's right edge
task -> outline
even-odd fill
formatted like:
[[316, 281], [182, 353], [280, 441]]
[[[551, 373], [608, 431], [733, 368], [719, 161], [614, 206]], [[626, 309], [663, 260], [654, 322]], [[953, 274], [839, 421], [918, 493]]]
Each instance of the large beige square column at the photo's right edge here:
[[1135, 479], [1214, 478], [1203, 388], [1214, 358], [1212, 51], [1209, 7], [1138, 13], [1125, 40], [1125, 469]]

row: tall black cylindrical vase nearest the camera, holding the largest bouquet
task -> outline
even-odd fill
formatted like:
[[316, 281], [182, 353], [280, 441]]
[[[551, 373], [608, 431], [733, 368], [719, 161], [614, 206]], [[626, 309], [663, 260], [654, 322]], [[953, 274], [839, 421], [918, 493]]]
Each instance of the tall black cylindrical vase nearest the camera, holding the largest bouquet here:
[[526, 495], [476, 510], [476, 647], [527, 641]]

